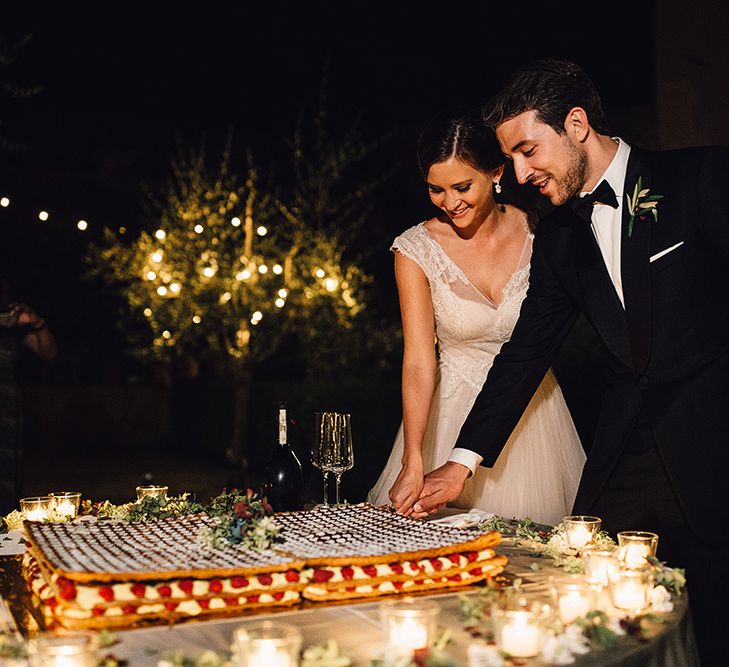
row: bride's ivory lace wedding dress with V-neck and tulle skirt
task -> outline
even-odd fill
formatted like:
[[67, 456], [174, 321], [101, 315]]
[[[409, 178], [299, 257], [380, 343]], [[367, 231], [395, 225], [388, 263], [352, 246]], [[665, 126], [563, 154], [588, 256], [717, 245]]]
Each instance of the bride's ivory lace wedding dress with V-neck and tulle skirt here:
[[[435, 311], [438, 378], [423, 442], [426, 472], [448, 460], [494, 357], [511, 336], [529, 284], [532, 239], [528, 234], [499, 305], [468, 279], [428, 234], [425, 223], [411, 227], [392, 244], [391, 250], [425, 272]], [[401, 424], [368, 502], [389, 503], [387, 494], [400, 472], [402, 453]], [[479, 466], [451, 505], [554, 525], [571, 512], [584, 462], [572, 417], [549, 370], [495, 466]]]

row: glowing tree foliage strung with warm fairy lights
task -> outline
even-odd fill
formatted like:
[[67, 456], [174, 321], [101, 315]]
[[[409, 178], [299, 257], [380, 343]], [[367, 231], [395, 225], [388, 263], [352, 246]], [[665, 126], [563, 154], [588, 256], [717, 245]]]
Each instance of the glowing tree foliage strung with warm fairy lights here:
[[150, 231], [128, 243], [108, 233], [96, 249], [99, 272], [144, 315], [151, 337], [140, 331], [141, 356], [202, 344], [255, 362], [314, 310], [338, 323], [362, 310], [362, 273], [343, 263], [336, 237], [282, 216], [259, 198], [255, 174], [235, 185], [228, 168], [212, 180], [201, 169], [193, 161], [175, 172]]

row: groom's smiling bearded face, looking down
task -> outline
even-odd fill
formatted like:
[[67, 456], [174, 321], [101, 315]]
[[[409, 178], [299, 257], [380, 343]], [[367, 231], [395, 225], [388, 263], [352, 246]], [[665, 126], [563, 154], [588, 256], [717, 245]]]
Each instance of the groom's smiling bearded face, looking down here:
[[582, 190], [587, 172], [584, 148], [567, 133], [559, 134], [525, 111], [496, 128], [504, 155], [514, 162], [519, 183], [539, 188], [555, 206], [561, 206]]

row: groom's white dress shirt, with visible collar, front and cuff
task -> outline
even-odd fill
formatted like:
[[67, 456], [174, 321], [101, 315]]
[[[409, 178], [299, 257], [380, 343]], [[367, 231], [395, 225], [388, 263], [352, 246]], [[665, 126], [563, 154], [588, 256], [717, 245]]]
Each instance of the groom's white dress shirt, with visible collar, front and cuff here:
[[[618, 199], [618, 207], [613, 208], [607, 204], [596, 204], [592, 210], [592, 233], [595, 235], [597, 245], [602, 253], [605, 266], [610, 274], [615, 286], [615, 291], [620, 299], [620, 303], [625, 308], [625, 300], [623, 299], [623, 282], [620, 275], [620, 237], [623, 219], [623, 186], [625, 184], [625, 173], [628, 169], [628, 157], [630, 156], [630, 146], [622, 139], [614, 137], [618, 144], [618, 150], [612, 161], [605, 170], [605, 173], [597, 179], [595, 187], [601, 181], [607, 181], [615, 191]], [[592, 192], [592, 191], [590, 191]], [[590, 192], [581, 192], [580, 197], [584, 197]], [[486, 379], [488, 382], [488, 378]], [[481, 465], [483, 456], [472, 452], [470, 449], [462, 447], [454, 447], [449, 461], [460, 463], [471, 471], [471, 475], [476, 472], [476, 468]]]

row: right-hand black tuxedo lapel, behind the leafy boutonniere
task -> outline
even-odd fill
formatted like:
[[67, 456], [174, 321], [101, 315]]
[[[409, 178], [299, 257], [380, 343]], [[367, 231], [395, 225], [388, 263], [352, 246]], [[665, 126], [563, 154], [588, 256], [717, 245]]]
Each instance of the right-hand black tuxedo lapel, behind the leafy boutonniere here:
[[640, 150], [632, 149], [625, 174], [623, 199], [623, 225], [620, 244], [620, 274], [623, 281], [623, 298], [625, 299], [625, 317], [628, 323], [630, 349], [633, 367], [642, 371], [648, 363], [650, 353], [650, 240], [653, 218], [646, 220], [635, 218], [633, 229], [628, 236], [627, 197], [632, 197], [638, 178], [642, 178], [642, 187], [651, 187], [651, 172], [647, 156]]

